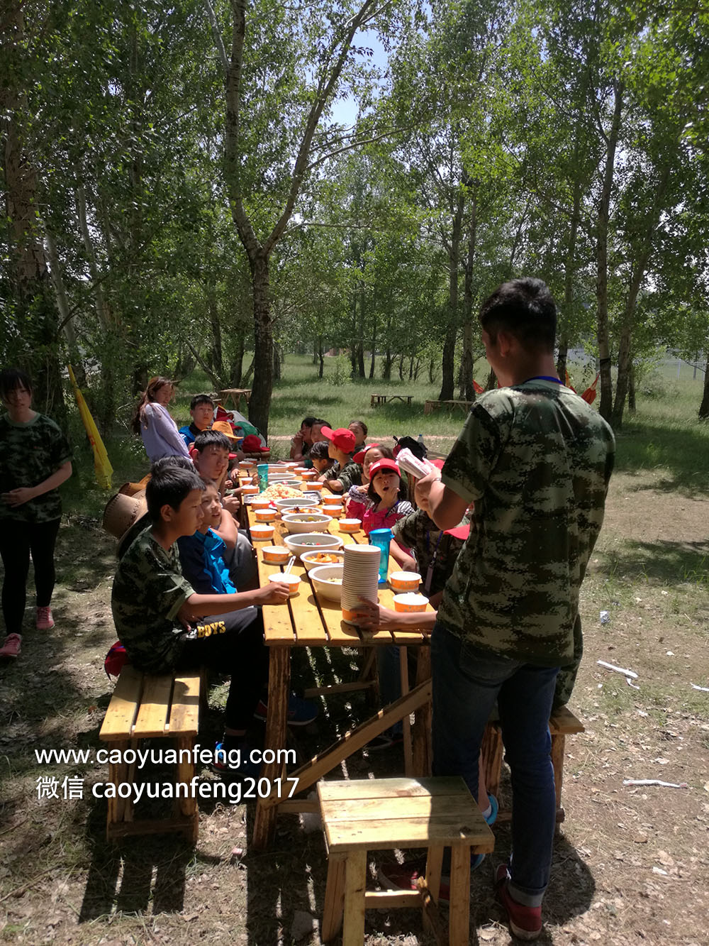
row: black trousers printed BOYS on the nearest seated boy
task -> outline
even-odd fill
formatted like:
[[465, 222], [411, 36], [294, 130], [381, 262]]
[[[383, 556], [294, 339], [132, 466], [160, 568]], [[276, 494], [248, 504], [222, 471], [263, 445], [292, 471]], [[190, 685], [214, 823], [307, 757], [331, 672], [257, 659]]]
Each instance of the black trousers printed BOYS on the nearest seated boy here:
[[245, 607], [205, 618], [197, 627], [202, 636], [185, 640], [177, 670], [205, 666], [230, 674], [224, 710], [228, 729], [246, 729], [268, 679], [268, 651], [261, 611]]

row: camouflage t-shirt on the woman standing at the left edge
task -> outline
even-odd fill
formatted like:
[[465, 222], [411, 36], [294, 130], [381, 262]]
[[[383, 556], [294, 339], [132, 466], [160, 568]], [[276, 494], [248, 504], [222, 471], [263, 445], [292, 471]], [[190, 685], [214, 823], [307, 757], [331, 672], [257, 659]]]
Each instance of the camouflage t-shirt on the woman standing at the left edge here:
[[[0, 417], [0, 493], [21, 486], [36, 486], [72, 459], [72, 451], [61, 429], [38, 413], [25, 424]], [[61, 517], [58, 489], [11, 508], [0, 502], [0, 520], [51, 522]]]

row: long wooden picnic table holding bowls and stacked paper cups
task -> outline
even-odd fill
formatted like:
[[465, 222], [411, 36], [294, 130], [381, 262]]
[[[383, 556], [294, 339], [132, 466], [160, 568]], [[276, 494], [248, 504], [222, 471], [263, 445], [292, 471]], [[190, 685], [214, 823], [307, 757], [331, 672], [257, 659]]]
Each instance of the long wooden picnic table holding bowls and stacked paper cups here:
[[[252, 510], [249, 507], [249, 522], [251, 524]], [[283, 544], [286, 533], [285, 526], [276, 520], [273, 544]], [[340, 533], [337, 527], [337, 518], [330, 523], [332, 534], [342, 538], [345, 544], [367, 543], [367, 536], [363, 532], [355, 534]], [[282, 566], [268, 565], [263, 560], [261, 549], [270, 542], [256, 541], [258, 558], [259, 584], [268, 582], [268, 576], [281, 572]], [[399, 566], [389, 558], [389, 570], [397, 570]], [[388, 631], [378, 628], [375, 631], [362, 630], [341, 620], [341, 609], [337, 602], [328, 601], [319, 595], [310, 583], [304, 566], [297, 562], [291, 569], [293, 574], [301, 578], [300, 590], [297, 595], [289, 598], [285, 605], [264, 605], [264, 631], [268, 646], [268, 713], [266, 719], [266, 739], [264, 749], [278, 750], [285, 748], [287, 729], [287, 705], [290, 692], [290, 652], [293, 647], [363, 647], [370, 650], [373, 657], [373, 646], [398, 644], [401, 647], [400, 666], [402, 672], [402, 695], [388, 707], [379, 710], [375, 716], [355, 729], [347, 732], [334, 745], [330, 745], [323, 752], [305, 762], [295, 772], [291, 772], [289, 779], [298, 779], [294, 794], [301, 795], [326, 775], [340, 762], [370, 742], [374, 736], [384, 732], [399, 720], [404, 724], [404, 750], [406, 775], [424, 776], [430, 773], [430, 713], [431, 713], [431, 673], [430, 651], [426, 646], [429, 638], [420, 631]], [[378, 600], [380, 604], [393, 607], [394, 592], [389, 587], [380, 587]], [[430, 605], [429, 605], [430, 606]], [[408, 668], [406, 662], [406, 647], [415, 646], [418, 651], [416, 683], [413, 689], [408, 688]], [[351, 692], [371, 686], [371, 682], [363, 679], [367, 667], [360, 680], [356, 683], [340, 683], [332, 687], [306, 691], [306, 695], [314, 692]], [[416, 713], [416, 721], [409, 738], [409, 714]], [[288, 799], [291, 781], [285, 781], [285, 763], [276, 758], [273, 762], [265, 762], [261, 779], [268, 780], [267, 787], [273, 786], [266, 797], [258, 797], [256, 801], [256, 815], [254, 820], [253, 838], [251, 844], [255, 850], [267, 848], [275, 831], [276, 816], [279, 812], [285, 814], [317, 810], [317, 802], [310, 802], [304, 798]], [[281, 780], [280, 782], [278, 780]], [[259, 792], [259, 796], [260, 796]]]

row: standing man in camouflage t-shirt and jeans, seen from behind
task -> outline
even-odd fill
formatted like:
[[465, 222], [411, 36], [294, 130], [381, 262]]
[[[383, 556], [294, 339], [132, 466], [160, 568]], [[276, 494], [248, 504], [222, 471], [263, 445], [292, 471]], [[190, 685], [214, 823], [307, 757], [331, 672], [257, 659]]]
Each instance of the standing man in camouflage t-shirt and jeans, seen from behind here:
[[512, 780], [513, 859], [497, 871], [515, 936], [542, 930], [556, 821], [548, 718], [574, 658], [579, 588], [603, 521], [614, 436], [556, 374], [556, 307], [538, 279], [503, 284], [480, 315], [500, 388], [480, 397], [419, 505], [441, 529], [474, 524], [433, 631], [433, 768], [473, 794], [497, 700]]

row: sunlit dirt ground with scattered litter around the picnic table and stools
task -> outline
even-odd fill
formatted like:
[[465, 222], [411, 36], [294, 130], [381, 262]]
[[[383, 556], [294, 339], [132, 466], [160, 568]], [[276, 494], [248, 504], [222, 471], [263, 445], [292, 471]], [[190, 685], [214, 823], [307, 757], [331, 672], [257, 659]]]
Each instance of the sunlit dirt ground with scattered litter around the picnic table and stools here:
[[[585, 657], [571, 708], [586, 731], [566, 742], [566, 820], [555, 844], [541, 942], [704, 944], [709, 941], [709, 500], [666, 490], [651, 474], [617, 474], [582, 594]], [[319, 830], [279, 821], [273, 850], [249, 850], [246, 805], [200, 802], [196, 848], [167, 838], [104, 839], [106, 803], [90, 786], [105, 768], [38, 764], [35, 749], [97, 748], [112, 684], [102, 659], [114, 640], [113, 543], [97, 519], [61, 530], [56, 632], [28, 632], [22, 657], [0, 667], [0, 936], [20, 943], [249, 943], [317, 946], [326, 858]], [[609, 620], [600, 622], [600, 612]], [[302, 652], [294, 678], [320, 677]], [[336, 666], [351, 672], [349, 657]], [[631, 688], [604, 659], [638, 674]], [[219, 727], [223, 683], [201, 742]], [[307, 757], [365, 718], [364, 700], [322, 704], [294, 745]], [[254, 730], [258, 736], [258, 729]], [[401, 772], [397, 752], [364, 753], [339, 777]], [[38, 797], [37, 780], [82, 780], [82, 798]], [[205, 777], [208, 777], [205, 773]], [[624, 786], [659, 779], [683, 788]], [[504, 786], [503, 786], [504, 791]], [[474, 875], [472, 943], [510, 934], [492, 893], [495, 852]], [[372, 884], [375, 858], [372, 857]], [[299, 926], [300, 924], [300, 926]], [[425, 946], [414, 911], [367, 915], [367, 946]]]

